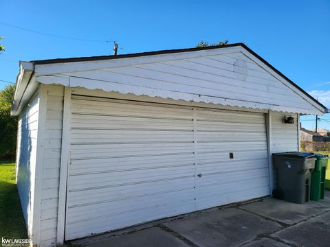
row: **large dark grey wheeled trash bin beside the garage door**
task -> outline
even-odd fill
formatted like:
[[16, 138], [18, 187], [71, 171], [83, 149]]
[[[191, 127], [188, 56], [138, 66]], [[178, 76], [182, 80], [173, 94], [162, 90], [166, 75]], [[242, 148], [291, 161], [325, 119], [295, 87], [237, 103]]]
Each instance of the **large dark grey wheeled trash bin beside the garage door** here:
[[309, 202], [311, 172], [315, 167], [315, 161], [314, 153], [273, 154], [278, 182], [273, 196], [288, 202]]

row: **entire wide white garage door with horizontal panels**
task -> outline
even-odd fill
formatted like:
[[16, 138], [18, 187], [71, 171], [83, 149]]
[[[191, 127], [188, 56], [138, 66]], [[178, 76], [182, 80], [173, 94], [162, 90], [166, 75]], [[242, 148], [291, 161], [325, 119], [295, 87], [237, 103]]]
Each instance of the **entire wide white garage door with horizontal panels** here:
[[269, 194], [262, 114], [73, 95], [70, 149], [65, 239]]

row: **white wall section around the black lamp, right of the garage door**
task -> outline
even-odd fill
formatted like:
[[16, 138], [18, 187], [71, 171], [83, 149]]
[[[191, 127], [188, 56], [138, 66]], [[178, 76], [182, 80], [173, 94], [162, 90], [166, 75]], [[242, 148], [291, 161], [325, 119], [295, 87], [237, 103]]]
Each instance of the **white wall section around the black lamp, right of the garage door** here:
[[[298, 152], [298, 115], [296, 113], [272, 112], [272, 140], [271, 152]], [[283, 117], [291, 115], [294, 117], [294, 124], [283, 124]], [[276, 188], [276, 169], [273, 164], [273, 183]]]

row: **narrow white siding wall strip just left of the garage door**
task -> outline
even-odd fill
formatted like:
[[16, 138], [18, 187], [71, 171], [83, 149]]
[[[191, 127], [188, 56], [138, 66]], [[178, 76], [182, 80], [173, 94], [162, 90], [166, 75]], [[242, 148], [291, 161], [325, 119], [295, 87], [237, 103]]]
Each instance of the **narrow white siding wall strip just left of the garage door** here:
[[45, 86], [47, 107], [41, 198], [40, 240], [38, 246], [56, 246], [58, 187], [61, 163], [63, 86]]

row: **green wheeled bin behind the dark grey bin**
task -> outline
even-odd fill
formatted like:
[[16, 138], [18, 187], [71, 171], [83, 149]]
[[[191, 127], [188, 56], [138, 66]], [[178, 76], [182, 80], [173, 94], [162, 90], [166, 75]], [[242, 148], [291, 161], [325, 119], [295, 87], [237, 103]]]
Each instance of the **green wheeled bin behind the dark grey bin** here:
[[315, 154], [315, 168], [311, 173], [311, 200], [318, 201], [325, 198], [325, 174], [329, 156], [325, 154]]

